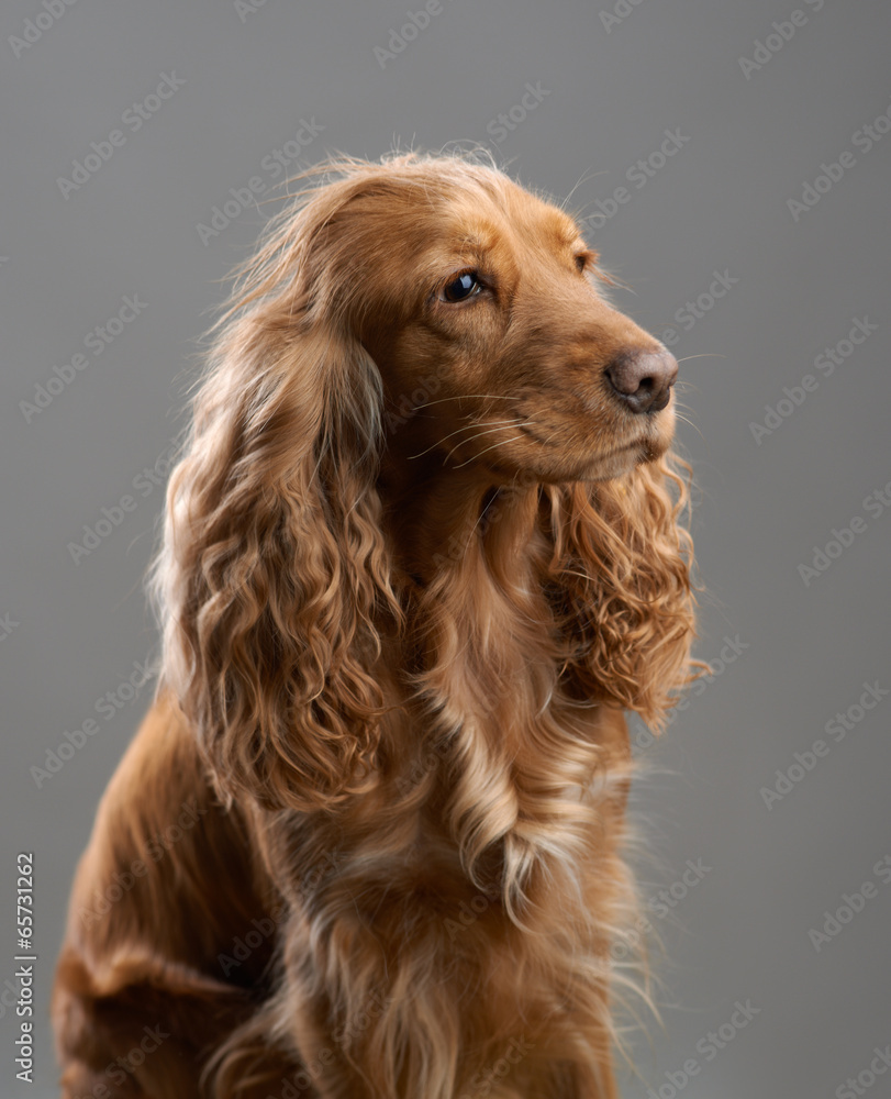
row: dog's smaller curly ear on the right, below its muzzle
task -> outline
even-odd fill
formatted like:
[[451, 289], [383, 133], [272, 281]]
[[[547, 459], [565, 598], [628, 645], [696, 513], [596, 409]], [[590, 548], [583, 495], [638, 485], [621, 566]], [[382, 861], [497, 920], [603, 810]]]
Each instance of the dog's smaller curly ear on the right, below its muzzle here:
[[692, 542], [687, 481], [665, 457], [614, 480], [548, 490], [548, 581], [584, 693], [665, 724], [690, 681]]

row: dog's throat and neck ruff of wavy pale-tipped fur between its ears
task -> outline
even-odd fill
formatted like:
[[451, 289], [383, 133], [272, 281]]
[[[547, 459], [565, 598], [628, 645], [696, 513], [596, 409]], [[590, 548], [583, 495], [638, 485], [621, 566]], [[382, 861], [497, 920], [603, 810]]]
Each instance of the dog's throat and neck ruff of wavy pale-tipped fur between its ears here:
[[[600, 714], [561, 678], [541, 486], [441, 463], [412, 466], [411, 478], [394, 463], [379, 484], [391, 551], [399, 547], [399, 570], [412, 578], [411, 655], [401, 659], [425, 708], [423, 740], [415, 725], [397, 723], [389, 752], [397, 788], [426, 821], [425, 865], [445, 873], [436, 853], [457, 842], [461, 873], [513, 904], [534, 867], [571, 878], [588, 843], [582, 791], [603, 759]], [[547, 843], [531, 821], [548, 822]]]

